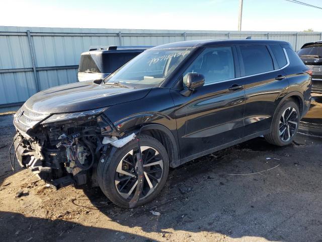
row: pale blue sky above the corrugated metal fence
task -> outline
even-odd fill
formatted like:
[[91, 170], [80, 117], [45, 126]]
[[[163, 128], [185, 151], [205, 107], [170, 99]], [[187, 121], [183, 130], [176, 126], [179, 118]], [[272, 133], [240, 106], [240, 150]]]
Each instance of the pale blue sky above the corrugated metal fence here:
[[[301, 0], [322, 7], [322, 0]], [[237, 30], [239, 0], [2, 0], [0, 25]], [[285, 0], [244, 0], [245, 31], [322, 31], [322, 10]]]

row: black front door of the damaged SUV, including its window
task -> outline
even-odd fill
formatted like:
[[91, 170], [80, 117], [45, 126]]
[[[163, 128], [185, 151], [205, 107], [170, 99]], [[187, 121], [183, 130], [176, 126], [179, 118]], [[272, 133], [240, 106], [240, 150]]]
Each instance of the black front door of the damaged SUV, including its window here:
[[183, 163], [244, 136], [245, 90], [236, 79], [235, 47], [205, 48], [183, 74], [183, 83], [192, 72], [205, 76], [204, 86], [188, 97], [171, 90]]

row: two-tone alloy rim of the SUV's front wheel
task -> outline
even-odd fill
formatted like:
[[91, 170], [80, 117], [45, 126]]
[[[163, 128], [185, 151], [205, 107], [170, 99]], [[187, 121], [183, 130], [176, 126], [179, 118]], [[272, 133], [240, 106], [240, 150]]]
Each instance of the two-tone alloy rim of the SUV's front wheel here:
[[[118, 163], [115, 172], [115, 186], [117, 192], [126, 200], [131, 200], [137, 186], [136, 153], [132, 149], [126, 153]], [[159, 152], [150, 146], [141, 146], [143, 160], [144, 182], [139, 199], [150, 195], [159, 184], [163, 174], [163, 160]]]

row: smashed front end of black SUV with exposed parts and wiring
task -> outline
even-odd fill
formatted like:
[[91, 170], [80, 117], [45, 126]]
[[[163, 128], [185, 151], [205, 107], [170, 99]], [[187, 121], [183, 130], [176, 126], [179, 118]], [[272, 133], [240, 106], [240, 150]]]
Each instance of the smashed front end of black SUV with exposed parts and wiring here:
[[15, 155], [20, 166], [56, 189], [90, 180], [97, 186], [97, 161], [105, 159], [111, 149], [111, 142], [105, 140], [115, 142], [120, 136], [105, 110], [41, 114], [22, 106], [14, 119]]

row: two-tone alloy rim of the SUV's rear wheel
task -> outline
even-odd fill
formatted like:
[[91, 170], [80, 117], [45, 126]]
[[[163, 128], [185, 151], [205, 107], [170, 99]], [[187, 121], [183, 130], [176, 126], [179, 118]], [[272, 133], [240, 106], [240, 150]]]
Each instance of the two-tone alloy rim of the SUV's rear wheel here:
[[298, 115], [294, 107], [288, 107], [282, 113], [279, 122], [279, 136], [282, 141], [288, 142], [294, 135], [298, 125]]

